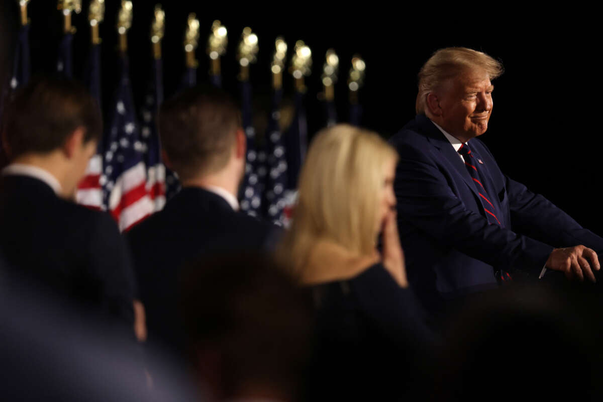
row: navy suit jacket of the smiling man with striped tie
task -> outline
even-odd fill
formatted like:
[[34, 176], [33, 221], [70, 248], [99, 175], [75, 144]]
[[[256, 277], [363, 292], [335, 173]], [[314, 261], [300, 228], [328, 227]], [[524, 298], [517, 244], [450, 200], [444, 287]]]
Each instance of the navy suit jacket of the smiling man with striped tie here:
[[390, 143], [400, 156], [394, 190], [408, 278], [431, 312], [447, 299], [496, 287], [495, 269], [537, 278], [554, 247], [603, 251], [601, 237], [504, 175], [481, 140], [468, 144], [500, 226], [488, 223], [466, 166], [425, 115]]

